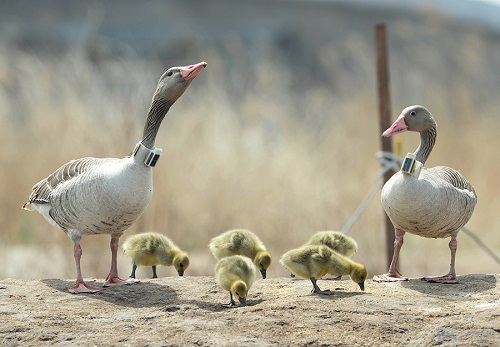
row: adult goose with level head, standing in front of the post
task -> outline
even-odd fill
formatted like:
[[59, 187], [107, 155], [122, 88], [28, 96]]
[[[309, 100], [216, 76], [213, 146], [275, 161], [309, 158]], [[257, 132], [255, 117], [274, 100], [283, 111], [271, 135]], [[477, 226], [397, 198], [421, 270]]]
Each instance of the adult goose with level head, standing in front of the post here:
[[403, 110], [382, 136], [404, 131], [420, 133], [420, 145], [408, 153], [401, 171], [395, 173], [382, 188], [382, 206], [394, 225], [396, 237], [389, 272], [375, 276], [375, 281], [407, 280], [398, 271], [399, 252], [405, 233], [423, 237], [451, 237], [450, 271], [444, 276], [424, 277], [438, 283], [458, 283], [455, 272], [457, 234], [468, 222], [476, 206], [474, 187], [460, 172], [446, 166], [424, 167], [436, 142], [437, 126], [423, 106]]

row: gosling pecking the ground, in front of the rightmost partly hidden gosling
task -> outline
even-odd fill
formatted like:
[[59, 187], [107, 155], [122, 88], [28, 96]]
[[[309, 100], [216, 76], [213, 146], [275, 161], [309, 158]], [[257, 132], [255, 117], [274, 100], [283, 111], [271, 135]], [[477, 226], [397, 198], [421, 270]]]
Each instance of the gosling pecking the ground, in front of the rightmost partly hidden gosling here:
[[330, 290], [321, 290], [316, 283], [317, 279], [327, 273], [334, 276], [349, 275], [361, 290], [365, 290], [365, 280], [368, 276], [366, 267], [323, 245], [306, 245], [288, 251], [283, 254], [280, 263], [295, 275], [309, 278], [313, 284], [313, 293], [333, 294]]

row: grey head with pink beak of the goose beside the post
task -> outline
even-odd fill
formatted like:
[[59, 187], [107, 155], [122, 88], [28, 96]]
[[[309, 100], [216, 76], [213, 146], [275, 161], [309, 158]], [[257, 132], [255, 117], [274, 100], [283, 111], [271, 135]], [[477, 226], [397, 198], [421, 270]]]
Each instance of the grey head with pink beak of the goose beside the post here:
[[389, 137], [404, 131], [425, 132], [436, 126], [434, 118], [425, 107], [420, 105], [405, 108], [396, 121], [382, 133], [382, 136]]

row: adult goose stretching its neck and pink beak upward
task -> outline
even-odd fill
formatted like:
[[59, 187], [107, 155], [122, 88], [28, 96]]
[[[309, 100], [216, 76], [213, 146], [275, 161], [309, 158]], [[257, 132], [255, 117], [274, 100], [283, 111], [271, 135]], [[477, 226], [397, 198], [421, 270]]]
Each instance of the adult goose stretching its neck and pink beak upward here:
[[123, 232], [144, 212], [153, 193], [153, 167], [161, 149], [154, 146], [166, 113], [206, 66], [172, 67], [160, 78], [149, 108], [143, 138], [128, 157], [81, 158], [61, 166], [38, 182], [23, 208], [36, 210], [61, 228], [74, 243], [76, 284], [70, 293], [94, 293], [103, 288], [84, 282], [80, 270], [83, 235], [111, 235], [111, 270], [104, 286], [136, 282], [118, 277], [116, 256]]

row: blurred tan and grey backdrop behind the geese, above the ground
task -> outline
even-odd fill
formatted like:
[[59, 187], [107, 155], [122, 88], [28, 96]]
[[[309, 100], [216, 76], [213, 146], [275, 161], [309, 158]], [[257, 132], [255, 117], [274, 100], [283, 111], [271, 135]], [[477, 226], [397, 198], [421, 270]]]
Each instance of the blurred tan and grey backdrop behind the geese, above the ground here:
[[[0, 278], [74, 278], [73, 245], [36, 212], [31, 188], [85, 156], [123, 157], [141, 139], [156, 83], [171, 66], [208, 67], [163, 121], [154, 195], [127, 230], [166, 234], [211, 275], [208, 241], [232, 228], [281, 254], [341, 230], [381, 180], [374, 25], [386, 23], [392, 118], [435, 116], [427, 166], [459, 169], [478, 204], [467, 227], [500, 252], [500, 7], [493, 1], [0, 2]], [[405, 133], [402, 153], [418, 134]], [[380, 191], [349, 235], [354, 259], [387, 271]], [[109, 236], [82, 240], [82, 271], [103, 278]], [[410, 277], [448, 272], [449, 239], [408, 234]], [[122, 276], [129, 259], [120, 252]], [[498, 273], [465, 233], [457, 273]], [[176, 276], [161, 267], [159, 276]], [[139, 277], [150, 277], [140, 268]]]

